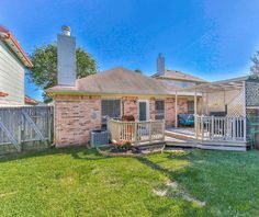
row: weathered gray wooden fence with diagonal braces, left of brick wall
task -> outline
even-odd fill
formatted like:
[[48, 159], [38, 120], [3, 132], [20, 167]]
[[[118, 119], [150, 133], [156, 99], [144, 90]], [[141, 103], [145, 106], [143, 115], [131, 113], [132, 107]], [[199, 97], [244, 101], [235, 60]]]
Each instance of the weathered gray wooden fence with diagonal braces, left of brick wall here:
[[50, 141], [52, 135], [52, 106], [0, 107], [0, 146], [21, 150], [22, 142]]

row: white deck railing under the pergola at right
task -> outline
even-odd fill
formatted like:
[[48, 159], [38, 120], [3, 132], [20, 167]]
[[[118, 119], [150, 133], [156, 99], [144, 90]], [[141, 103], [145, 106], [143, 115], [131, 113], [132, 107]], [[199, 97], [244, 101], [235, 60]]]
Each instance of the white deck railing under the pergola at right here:
[[201, 140], [246, 141], [244, 116], [195, 116], [195, 136]]

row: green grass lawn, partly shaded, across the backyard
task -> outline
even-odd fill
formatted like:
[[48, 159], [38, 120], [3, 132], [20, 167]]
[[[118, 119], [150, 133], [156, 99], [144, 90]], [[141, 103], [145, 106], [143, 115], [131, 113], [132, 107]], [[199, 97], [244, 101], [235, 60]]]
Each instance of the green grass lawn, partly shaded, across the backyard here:
[[[177, 182], [181, 194], [154, 189]], [[0, 159], [0, 216], [259, 216], [259, 152], [108, 158], [85, 148]]]

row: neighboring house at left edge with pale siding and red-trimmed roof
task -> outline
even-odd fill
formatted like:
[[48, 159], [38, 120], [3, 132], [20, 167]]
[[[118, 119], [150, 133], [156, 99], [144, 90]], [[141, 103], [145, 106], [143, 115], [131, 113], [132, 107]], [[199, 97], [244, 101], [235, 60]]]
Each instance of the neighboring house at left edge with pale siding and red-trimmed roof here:
[[12, 33], [0, 26], [0, 106], [24, 105], [24, 75], [32, 66]]

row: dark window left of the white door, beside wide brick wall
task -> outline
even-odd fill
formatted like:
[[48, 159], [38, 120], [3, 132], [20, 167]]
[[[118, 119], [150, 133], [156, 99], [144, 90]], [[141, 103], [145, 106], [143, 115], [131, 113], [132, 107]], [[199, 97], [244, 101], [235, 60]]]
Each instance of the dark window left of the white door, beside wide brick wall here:
[[102, 123], [106, 123], [106, 116], [121, 117], [121, 100], [102, 100]]

